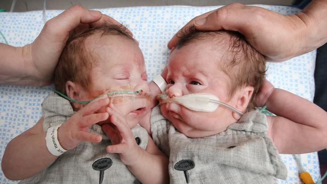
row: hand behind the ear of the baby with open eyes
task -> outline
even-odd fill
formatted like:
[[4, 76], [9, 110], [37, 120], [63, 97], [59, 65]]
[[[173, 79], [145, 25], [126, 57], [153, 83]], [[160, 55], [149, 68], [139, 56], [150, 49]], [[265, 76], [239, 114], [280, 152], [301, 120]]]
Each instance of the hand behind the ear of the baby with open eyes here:
[[255, 105], [257, 107], [263, 107], [267, 103], [274, 89], [274, 85], [270, 83], [270, 81], [265, 79], [264, 82], [261, 84], [258, 94], [256, 96]]

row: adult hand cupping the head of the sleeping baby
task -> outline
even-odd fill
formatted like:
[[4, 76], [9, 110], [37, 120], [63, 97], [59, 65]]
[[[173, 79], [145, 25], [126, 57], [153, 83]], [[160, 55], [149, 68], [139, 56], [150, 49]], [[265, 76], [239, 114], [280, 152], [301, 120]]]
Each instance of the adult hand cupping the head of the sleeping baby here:
[[39, 77], [40, 85], [52, 83], [55, 67], [70, 32], [78, 32], [108, 21], [120, 25], [99, 11], [81, 6], [72, 6], [47, 21], [34, 42], [24, 46], [24, 60], [34, 65], [34, 73]]

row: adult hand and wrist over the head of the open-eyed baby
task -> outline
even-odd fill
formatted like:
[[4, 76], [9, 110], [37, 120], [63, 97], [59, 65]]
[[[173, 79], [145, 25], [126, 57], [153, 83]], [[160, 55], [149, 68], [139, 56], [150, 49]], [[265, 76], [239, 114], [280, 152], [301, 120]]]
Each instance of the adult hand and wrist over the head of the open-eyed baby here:
[[[326, 35], [321, 34], [325, 32], [323, 30], [326, 29], [326, 23], [322, 21], [314, 23], [312, 18], [323, 19], [323, 13], [326, 13], [326, 10], [317, 4], [326, 6], [327, 3], [315, 1], [307, 11], [284, 16], [260, 7], [233, 3], [195, 17], [181, 30], [194, 25], [197, 30], [237, 31], [244, 35], [256, 50], [265, 55], [268, 61], [283, 61], [313, 50], [326, 41]], [[312, 12], [316, 14], [313, 16]], [[318, 23], [320, 27], [315, 25]], [[316, 34], [315, 37], [311, 32]], [[179, 33], [168, 43], [170, 49], [179, 40], [178, 35]]]

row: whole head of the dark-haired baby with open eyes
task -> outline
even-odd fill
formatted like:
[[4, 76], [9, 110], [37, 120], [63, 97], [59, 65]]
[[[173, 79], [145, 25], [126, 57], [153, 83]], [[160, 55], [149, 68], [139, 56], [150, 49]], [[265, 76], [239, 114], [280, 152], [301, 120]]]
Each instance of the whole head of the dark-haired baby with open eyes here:
[[[247, 112], [265, 77], [265, 59], [236, 32], [182, 34], [168, 61], [167, 95], [215, 95], [233, 108]], [[191, 111], [179, 104], [161, 105], [162, 114], [188, 137], [205, 137], [226, 130], [240, 116], [222, 106], [214, 112]]]

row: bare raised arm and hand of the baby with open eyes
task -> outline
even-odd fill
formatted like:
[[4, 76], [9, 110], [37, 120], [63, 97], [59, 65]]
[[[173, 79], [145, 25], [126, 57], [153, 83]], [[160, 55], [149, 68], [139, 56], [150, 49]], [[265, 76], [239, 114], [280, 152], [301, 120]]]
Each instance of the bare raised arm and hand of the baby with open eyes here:
[[315, 104], [274, 88], [267, 80], [256, 100], [277, 115], [267, 117], [268, 135], [280, 153], [307, 153], [327, 147], [327, 113]]

